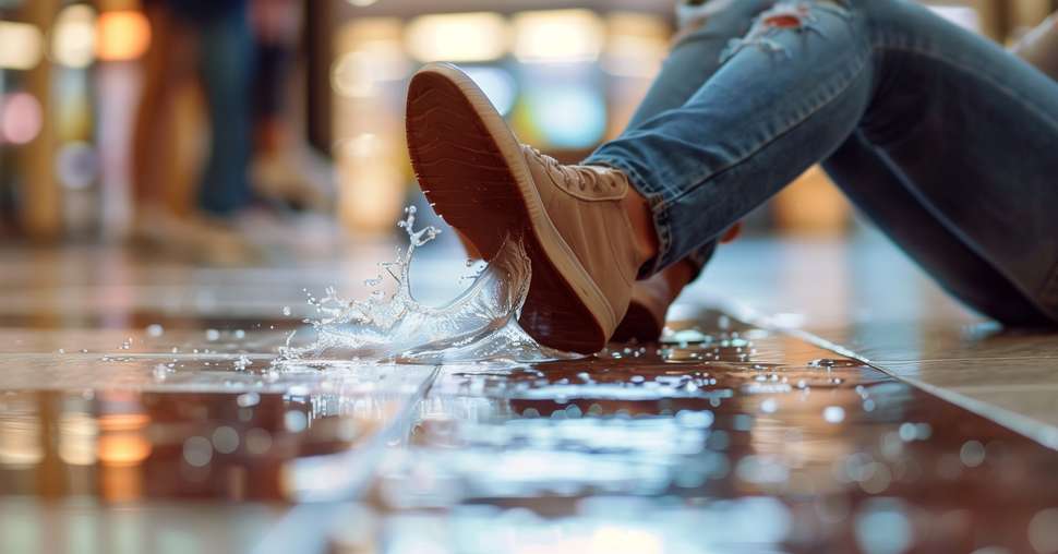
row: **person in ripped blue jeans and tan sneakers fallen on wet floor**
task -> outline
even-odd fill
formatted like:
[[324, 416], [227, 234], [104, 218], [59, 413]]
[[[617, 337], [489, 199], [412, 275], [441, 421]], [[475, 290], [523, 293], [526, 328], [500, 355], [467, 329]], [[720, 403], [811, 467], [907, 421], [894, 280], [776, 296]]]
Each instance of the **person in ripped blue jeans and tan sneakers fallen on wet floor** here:
[[530, 336], [601, 349], [637, 279], [699, 270], [819, 161], [970, 308], [1058, 322], [1058, 84], [906, 0], [713, 0], [697, 14], [628, 129], [580, 165], [519, 144], [454, 65], [413, 76], [420, 184], [484, 256], [522, 238]]

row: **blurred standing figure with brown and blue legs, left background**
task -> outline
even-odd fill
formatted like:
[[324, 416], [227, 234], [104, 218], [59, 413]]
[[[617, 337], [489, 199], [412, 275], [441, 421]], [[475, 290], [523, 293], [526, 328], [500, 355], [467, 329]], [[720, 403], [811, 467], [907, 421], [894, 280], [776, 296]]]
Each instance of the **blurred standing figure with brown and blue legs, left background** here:
[[202, 85], [209, 147], [197, 178], [196, 208], [225, 217], [251, 198], [253, 35], [247, 0], [144, 0], [154, 40], [133, 137], [133, 237], [152, 246], [187, 251], [211, 261], [240, 257], [242, 241], [200, 214], [181, 216], [166, 203], [166, 182], [180, 172], [173, 152], [179, 94]]

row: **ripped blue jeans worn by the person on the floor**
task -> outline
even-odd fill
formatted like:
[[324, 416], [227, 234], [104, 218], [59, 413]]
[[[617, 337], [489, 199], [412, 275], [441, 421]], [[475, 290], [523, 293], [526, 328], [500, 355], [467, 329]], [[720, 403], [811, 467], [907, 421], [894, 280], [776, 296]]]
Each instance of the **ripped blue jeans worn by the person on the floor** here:
[[[693, 3], [693, 2], [692, 2]], [[699, 2], [700, 3], [700, 2]], [[813, 164], [970, 308], [1058, 322], [1058, 84], [909, 0], [711, 0], [586, 164], [650, 202], [656, 273]]]

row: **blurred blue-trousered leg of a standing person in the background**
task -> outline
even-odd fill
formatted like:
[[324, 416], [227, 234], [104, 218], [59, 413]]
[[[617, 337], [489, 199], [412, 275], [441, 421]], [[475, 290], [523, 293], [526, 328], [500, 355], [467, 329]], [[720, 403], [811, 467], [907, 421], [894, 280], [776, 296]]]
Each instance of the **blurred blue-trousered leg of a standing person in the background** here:
[[216, 8], [200, 22], [200, 68], [208, 105], [211, 148], [199, 191], [200, 206], [215, 215], [247, 207], [251, 140], [253, 37], [243, 2]]

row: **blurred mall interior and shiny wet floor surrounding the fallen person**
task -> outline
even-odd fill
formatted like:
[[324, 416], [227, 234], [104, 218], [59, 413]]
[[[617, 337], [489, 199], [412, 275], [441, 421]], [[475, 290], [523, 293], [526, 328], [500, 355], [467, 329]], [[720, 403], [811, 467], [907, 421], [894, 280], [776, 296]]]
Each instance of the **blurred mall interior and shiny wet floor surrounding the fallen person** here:
[[[420, 67], [573, 164], [676, 3], [0, 0], [0, 552], [1058, 553], [1058, 334], [953, 300], [819, 167], [660, 341], [313, 350], [409, 207], [418, 302], [483, 265], [416, 181]], [[1058, 11], [921, 3], [1010, 49]]]

